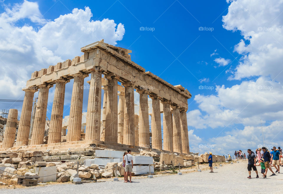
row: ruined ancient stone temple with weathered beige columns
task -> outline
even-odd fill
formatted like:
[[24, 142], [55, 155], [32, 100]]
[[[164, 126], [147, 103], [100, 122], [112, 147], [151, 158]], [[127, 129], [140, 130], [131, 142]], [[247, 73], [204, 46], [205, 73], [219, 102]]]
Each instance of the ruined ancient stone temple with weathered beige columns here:
[[[13, 149], [58, 149], [70, 146], [104, 146], [112, 149], [157, 149], [189, 153], [186, 112], [190, 92], [181, 85], [173, 86], [131, 61], [130, 50], [102, 41], [81, 48], [82, 56], [66, 60], [32, 73], [27, 81], [17, 140]], [[84, 139], [82, 107], [84, 78], [91, 76]], [[65, 85], [74, 79], [68, 132], [62, 129]], [[121, 85], [118, 84], [121, 83]], [[44, 143], [48, 91], [55, 87], [48, 142]], [[101, 90], [104, 90], [103, 97]], [[134, 111], [134, 90], [139, 93], [139, 115]], [[34, 92], [38, 91], [33, 131], [29, 140]], [[152, 99], [151, 141], [149, 148], [149, 103]], [[118, 100], [119, 99], [119, 100]], [[101, 107], [102, 104], [102, 107]], [[103, 113], [101, 114], [101, 109]], [[163, 137], [161, 117], [163, 113]], [[12, 112], [10, 119], [14, 118]], [[102, 117], [101, 117], [102, 115]], [[84, 129], [84, 128], [83, 128]], [[11, 147], [15, 133], [2, 148]], [[61, 136], [66, 135], [66, 142]], [[163, 145], [162, 145], [163, 138]]]

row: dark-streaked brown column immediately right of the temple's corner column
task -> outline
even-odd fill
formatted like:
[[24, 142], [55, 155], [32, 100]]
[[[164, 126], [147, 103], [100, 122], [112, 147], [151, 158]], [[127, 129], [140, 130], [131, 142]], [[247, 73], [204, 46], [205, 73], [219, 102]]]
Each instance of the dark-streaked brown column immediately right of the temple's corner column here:
[[105, 141], [118, 142], [118, 80], [113, 73], [105, 76], [108, 84]]

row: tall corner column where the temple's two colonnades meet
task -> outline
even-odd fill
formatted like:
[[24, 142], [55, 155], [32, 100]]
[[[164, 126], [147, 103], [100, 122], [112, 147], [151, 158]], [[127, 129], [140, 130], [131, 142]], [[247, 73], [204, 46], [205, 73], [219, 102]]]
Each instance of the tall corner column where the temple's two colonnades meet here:
[[91, 69], [85, 140], [100, 140], [101, 73], [100, 67]]

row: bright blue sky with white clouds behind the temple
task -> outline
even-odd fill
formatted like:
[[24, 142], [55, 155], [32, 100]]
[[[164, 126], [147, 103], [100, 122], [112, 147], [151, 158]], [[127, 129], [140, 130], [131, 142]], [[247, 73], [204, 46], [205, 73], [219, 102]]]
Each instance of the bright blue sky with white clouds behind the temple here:
[[[281, 1], [272, 3], [269, 6], [276, 11], [269, 13], [260, 6], [265, 3], [3, 1], [0, 41], [6, 47], [0, 48], [0, 64], [11, 80], [0, 83], [10, 83], [11, 87], [0, 88], [1, 98], [23, 99], [20, 89], [31, 72], [81, 55], [81, 47], [104, 38], [106, 43], [132, 50], [131, 59], [146, 71], [191, 92], [187, 112], [191, 151], [222, 155], [255, 149], [262, 144], [260, 118], [262, 130], [268, 134], [265, 144], [280, 146], [282, 141], [272, 134], [282, 135], [283, 9]], [[108, 20], [103, 23], [103, 19]], [[123, 27], [115, 25], [119, 23]], [[93, 25], [94, 31], [80, 30]], [[142, 31], [141, 27], [152, 31]], [[27, 29], [23, 32], [19, 28]], [[67, 100], [70, 101], [72, 83], [66, 86], [69, 92], [64, 116], [69, 115]], [[50, 89], [48, 118], [54, 88]], [[84, 111], [87, 97], [85, 90]], [[21, 109], [21, 104], [0, 105], [0, 109]]]

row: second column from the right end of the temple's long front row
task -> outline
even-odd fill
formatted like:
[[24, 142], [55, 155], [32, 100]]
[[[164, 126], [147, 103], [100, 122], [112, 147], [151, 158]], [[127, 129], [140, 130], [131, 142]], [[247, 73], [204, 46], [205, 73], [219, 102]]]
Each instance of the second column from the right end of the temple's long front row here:
[[173, 151], [182, 153], [182, 139], [181, 139], [181, 124], [180, 124], [180, 109], [177, 106], [172, 107], [173, 119]]

